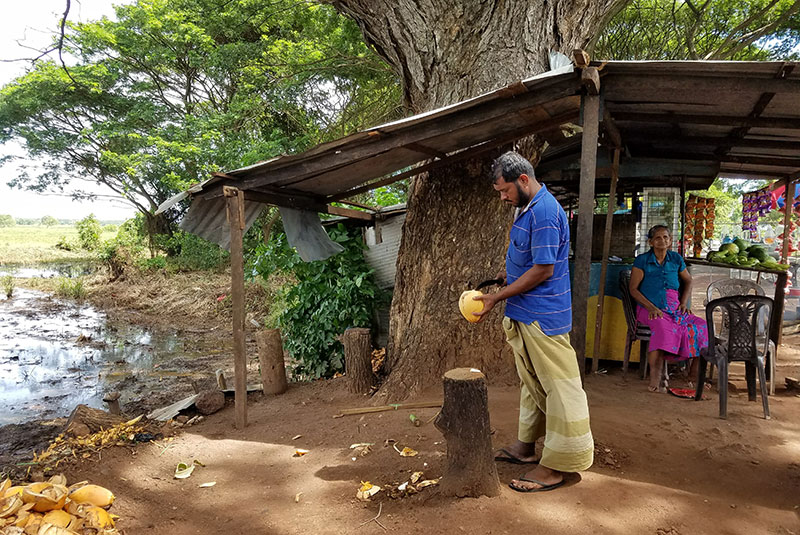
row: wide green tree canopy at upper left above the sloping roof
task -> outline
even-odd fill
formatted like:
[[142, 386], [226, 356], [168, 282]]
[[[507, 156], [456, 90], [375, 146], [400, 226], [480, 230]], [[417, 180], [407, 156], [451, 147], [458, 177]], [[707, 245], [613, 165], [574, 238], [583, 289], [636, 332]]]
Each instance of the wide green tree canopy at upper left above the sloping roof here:
[[210, 172], [398, 114], [391, 71], [330, 7], [139, 0], [116, 15], [68, 25], [68, 69], [42, 60], [0, 90], [0, 143], [36, 161], [12, 185], [81, 178], [147, 215]]

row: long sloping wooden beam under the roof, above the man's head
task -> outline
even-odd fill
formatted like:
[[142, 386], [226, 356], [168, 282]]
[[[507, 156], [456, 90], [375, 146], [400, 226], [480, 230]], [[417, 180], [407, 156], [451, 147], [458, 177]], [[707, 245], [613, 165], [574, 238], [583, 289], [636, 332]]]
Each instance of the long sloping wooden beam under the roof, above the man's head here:
[[364, 193], [366, 191], [370, 191], [375, 188], [380, 188], [382, 186], [388, 186], [389, 184], [394, 184], [395, 182], [399, 182], [400, 180], [416, 176], [420, 173], [425, 173], [433, 169], [438, 169], [439, 167], [452, 165], [456, 162], [460, 162], [462, 160], [478, 156], [479, 154], [483, 154], [484, 152], [490, 151], [496, 147], [499, 147], [500, 145], [504, 145], [511, 141], [515, 141], [521, 137], [535, 134], [536, 132], [553, 128], [554, 126], [566, 124], [575, 121], [577, 119], [578, 119], [578, 114], [576, 112], [568, 112], [561, 115], [557, 115], [545, 121], [533, 123], [531, 125], [509, 132], [507, 135], [487, 140], [484, 143], [475, 145], [467, 150], [463, 150], [461, 152], [457, 152], [451, 156], [448, 156], [443, 160], [437, 160], [435, 162], [423, 164], [408, 171], [404, 171], [396, 175], [390, 175], [380, 180], [376, 180], [375, 182], [370, 182], [369, 184], [364, 184], [363, 186], [358, 186], [357, 188], [353, 188], [342, 193], [337, 193], [336, 195], [331, 195], [328, 198], [328, 202], [339, 202], [342, 199], [346, 199], [348, 197], [352, 197], [354, 195], [358, 195], [359, 193]]

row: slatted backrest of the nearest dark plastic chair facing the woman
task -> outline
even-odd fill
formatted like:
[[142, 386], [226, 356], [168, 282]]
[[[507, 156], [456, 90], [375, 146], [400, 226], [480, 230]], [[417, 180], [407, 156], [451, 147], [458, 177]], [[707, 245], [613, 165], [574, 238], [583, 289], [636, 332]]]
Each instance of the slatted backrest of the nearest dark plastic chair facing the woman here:
[[[758, 340], [756, 335], [759, 323], [765, 321], [766, 326], [770, 324], [772, 304], [772, 299], [761, 295], [734, 295], [711, 301], [706, 306], [709, 352], [713, 355], [716, 351], [714, 312], [719, 309], [729, 323], [726, 352], [728, 361], [752, 361], [758, 355], [765, 355], [769, 339], [765, 336]], [[766, 314], [762, 314], [762, 310], [766, 310]], [[763, 344], [762, 348], [756, 346], [758, 342]]]

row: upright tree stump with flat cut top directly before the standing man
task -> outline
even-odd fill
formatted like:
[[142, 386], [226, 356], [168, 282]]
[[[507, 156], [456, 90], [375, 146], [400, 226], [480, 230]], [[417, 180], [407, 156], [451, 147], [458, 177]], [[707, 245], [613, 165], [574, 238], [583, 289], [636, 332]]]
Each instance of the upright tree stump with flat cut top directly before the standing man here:
[[486, 376], [473, 368], [444, 374], [444, 404], [434, 421], [447, 440], [445, 496], [497, 496], [500, 480], [492, 455]]

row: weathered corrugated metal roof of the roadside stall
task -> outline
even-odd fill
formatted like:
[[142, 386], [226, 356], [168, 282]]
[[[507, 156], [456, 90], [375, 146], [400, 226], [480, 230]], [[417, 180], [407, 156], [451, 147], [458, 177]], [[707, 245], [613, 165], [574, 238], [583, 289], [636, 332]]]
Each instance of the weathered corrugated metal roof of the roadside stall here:
[[[800, 69], [790, 62], [600, 61], [604, 111], [625, 145], [623, 178], [686, 175], [703, 187], [718, 175], [779, 178], [800, 173]], [[446, 165], [532, 133], [576, 123], [579, 72], [550, 72], [485, 95], [380, 125], [215, 177], [193, 195], [221, 195], [222, 183], [259, 200], [319, 206], [375, 179]], [[579, 128], [574, 128], [580, 131]], [[580, 136], [547, 135], [537, 168], [568, 190]], [[598, 176], [602, 177], [602, 158]], [[571, 162], [571, 163], [570, 163]], [[427, 167], [426, 167], [427, 166]], [[548, 182], [548, 184], [550, 184]], [[363, 187], [363, 186], [362, 186]], [[574, 187], [574, 186], [572, 186]], [[269, 201], [269, 202], [272, 202]], [[223, 214], [224, 216], [224, 214]]]

